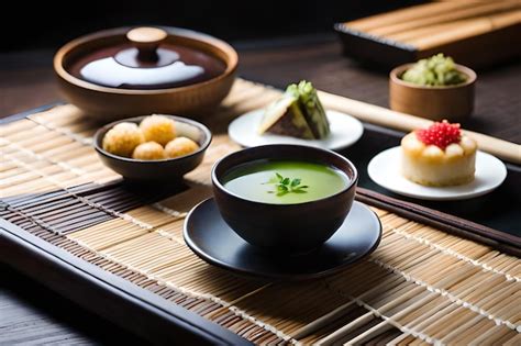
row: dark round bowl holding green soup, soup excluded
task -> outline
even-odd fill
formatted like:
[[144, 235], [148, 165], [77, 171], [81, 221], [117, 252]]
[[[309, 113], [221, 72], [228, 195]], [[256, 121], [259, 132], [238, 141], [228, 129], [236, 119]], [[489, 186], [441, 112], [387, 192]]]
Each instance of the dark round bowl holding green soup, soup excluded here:
[[[244, 199], [228, 191], [222, 178], [230, 169], [258, 159], [291, 159], [335, 167], [350, 183], [336, 194], [304, 203], [270, 204]], [[235, 152], [212, 169], [213, 194], [224, 221], [250, 244], [287, 253], [319, 247], [342, 225], [355, 197], [358, 174], [343, 156], [301, 145], [265, 145]]]

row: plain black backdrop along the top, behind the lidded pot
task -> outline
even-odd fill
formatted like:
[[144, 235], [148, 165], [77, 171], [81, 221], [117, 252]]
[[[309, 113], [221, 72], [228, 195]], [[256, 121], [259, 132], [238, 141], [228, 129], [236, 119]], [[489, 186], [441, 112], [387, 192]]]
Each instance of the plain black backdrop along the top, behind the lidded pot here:
[[[333, 32], [335, 22], [422, 0], [10, 1], [2, 3], [0, 51], [57, 48], [79, 35], [126, 25], [170, 25], [240, 42]], [[11, 23], [10, 23], [11, 22]]]

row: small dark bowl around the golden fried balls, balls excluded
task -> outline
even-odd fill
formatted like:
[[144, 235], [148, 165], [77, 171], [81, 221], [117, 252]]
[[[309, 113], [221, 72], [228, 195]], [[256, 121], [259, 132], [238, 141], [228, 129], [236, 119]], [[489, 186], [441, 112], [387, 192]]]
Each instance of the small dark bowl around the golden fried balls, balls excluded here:
[[177, 135], [186, 136], [199, 144], [199, 149], [191, 154], [160, 160], [141, 160], [118, 156], [103, 150], [103, 136], [110, 129], [122, 122], [132, 122], [137, 124], [146, 116], [148, 115], [115, 121], [99, 129], [93, 137], [93, 146], [96, 152], [98, 152], [101, 161], [107, 167], [122, 175], [128, 180], [148, 183], [178, 182], [185, 174], [193, 170], [201, 164], [202, 158], [204, 157], [204, 152], [212, 141], [212, 134], [210, 130], [208, 130], [208, 127], [203, 124], [193, 120], [181, 116], [164, 115], [173, 119], [176, 122]]

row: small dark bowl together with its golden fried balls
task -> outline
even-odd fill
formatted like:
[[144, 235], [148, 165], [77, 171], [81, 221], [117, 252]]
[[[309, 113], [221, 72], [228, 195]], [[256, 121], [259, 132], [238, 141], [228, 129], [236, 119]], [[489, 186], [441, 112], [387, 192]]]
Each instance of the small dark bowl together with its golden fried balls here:
[[199, 166], [212, 134], [203, 124], [175, 115], [144, 115], [99, 129], [93, 146], [101, 161], [126, 180], [178, 183]]

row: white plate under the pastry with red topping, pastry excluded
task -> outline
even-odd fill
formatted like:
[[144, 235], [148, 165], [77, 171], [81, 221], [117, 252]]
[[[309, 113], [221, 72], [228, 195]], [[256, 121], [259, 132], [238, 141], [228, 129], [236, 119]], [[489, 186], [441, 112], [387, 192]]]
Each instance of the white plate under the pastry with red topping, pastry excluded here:
[[412, 182], [400, 172], [401, 148], [399, 146], [381, 152], [367, 166], [370, 179], [396, 193], [422, 200], [463, 200], [488, 193], [499, 187], [507, 177], [507, 167], [492, 155], [476, 153], [475, 179], [454, 187], [425, 187]]

